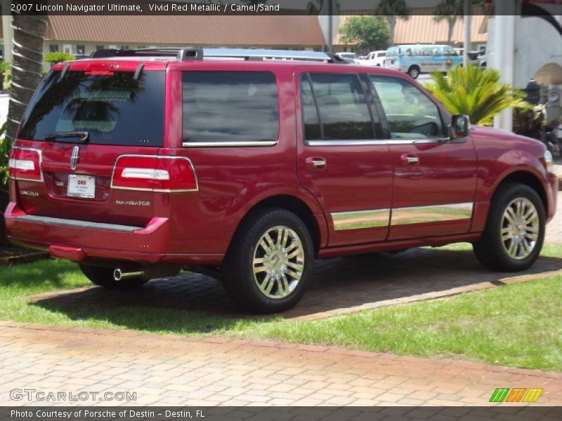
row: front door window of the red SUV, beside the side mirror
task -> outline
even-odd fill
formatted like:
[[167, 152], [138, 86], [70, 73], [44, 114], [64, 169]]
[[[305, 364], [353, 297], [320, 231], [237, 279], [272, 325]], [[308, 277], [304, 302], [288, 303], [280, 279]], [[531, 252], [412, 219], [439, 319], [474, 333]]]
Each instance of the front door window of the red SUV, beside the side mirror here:
[[392, 138], [440, 138], [439, 110], [412, 83], [401, 78], [371, 76], [379, 94]]

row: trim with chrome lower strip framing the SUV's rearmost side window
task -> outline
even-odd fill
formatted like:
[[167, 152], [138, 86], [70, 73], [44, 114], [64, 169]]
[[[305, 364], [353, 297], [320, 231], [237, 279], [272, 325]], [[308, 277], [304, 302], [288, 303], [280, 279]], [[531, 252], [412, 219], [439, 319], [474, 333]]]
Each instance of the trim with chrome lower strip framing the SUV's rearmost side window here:
[[[238, 141], [238, 142], [189, 142], [183, 139], [183, 74], [185, 73], [269, 73], [273, 74], [275, 78], [275, 91], [277, 93], [277, 137], [275, 140], [264, 140], [264, 141]], [[246, 69], [226, 69], [226, 70], [192, 70], [192, 69], [182, 69], [181, 70], [181, 107], [182, 107], [182, 118], [181, 118], [181, 145], [182, 147], [273, 147], [279, 143], [281, 137], [281, 104], [280, 104], [280, 89], [279, 89], [279, 78], [275, 72], [269, 70], [246, 70]]]

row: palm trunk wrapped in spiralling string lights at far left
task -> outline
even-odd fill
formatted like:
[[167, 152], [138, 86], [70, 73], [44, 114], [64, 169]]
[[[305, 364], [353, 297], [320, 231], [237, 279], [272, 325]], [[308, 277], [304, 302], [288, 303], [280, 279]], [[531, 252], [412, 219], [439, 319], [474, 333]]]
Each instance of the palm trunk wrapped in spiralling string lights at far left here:
[[41, 81], [46, 15], [13, 16], [13, 60], [6, 137], [13, 140], [27, 103]]

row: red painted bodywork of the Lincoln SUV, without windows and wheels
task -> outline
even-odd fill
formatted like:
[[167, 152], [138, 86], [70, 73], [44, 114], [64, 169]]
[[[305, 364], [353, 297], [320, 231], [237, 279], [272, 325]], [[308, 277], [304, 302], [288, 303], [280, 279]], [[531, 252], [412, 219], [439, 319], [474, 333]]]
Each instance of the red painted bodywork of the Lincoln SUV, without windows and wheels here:
[[[431, 145], [383, 142], [380, 145], [335, 147], [304, 144], [299, 103], [301, 73], [372, 73], [410, 80], [400, 72], [352, 65], [271, 61], [177, 62], [163, 58], [80, 60], [72, 63], [68, 71], [84, 70], [96, 74], [134, 72], [141, 63], [145, 65], [143, 72], [166, 72], [162, 93], [165, 103], [163, 147], [79, 144], [79, 162], [74, 173], [96, 177], [96, 197], [74, 199], [68, 197], [65, 187], [61, 186], [67, 175], [72, 173], [70, 156], [74, 144], [18, 138], [15, 147], [41, 150], [44, 181], [10, 180], [11, 204], [5, 216], [6, 231], [11, 240], [48, 249], [55, 257], [74, 261], [103, 258], [219, 265], [240, 221], [251, 208], [275, 196], [289, 196], [298, 200], [311, 214], [320, 257], [474, 241], [483, 230], [490, 198], [497, 185], [516, 171], [527, 173], [537, 180], [547, 201], [548, 217], [554, 215], [556, 178], [545, 171], [540, 161], [544, 146], [511, 133], [473, 127], [465, 142]], [[63, 67], [55, 65], [53, 69]], [[280, 112], [277, 145], [182, 146], [181, 72], [225, 69], [275, 74]], [[426, 93], [417, 82], [410, 82]], [[436, 102], [433, 98], [431, 100]], [[445, 120], [450, 119], [443, 109], [442, 114]], [[31, 154], [34, 155], [34, 152]], [[160, 163], [154, 157], [185, 157], [189, 161], [179, 161], [185, 163], [190, 177], [162, 182], [161, 187], [166, 189], [174, 182], [194, 187], [197, 182], [198, 190], [154, 192], [150, 191], [155, 185], [154, 180], [122, 178], [119, 178], [119, 183], [124, 183], [121, 187], [142, 187], [149, 191], [114, 189], [111, 187], [114, 168], [117, 163], [115, 171], [119, 177], [122, 168], [118, 159], [123, 155], [152, 156], [148, 158], [148, 166], [166, 169], [179, 178], [181, 174], [175, 174], [170, 166], [173, 159]], [[403, 159], [404, 156], [415, 156], [419, 163], [410, 165], [407, 159]], [[324, 159], [327, 165], [313, 166], [314, 159]], [[147, 167], [144, 161], [138, 165]], [[26, 193], [22, 194], [22, 191]], [[353, 210], [472, 202], [471, 221], [335, 231], [330, 215]], [[131, 203], [145, 203], [146, 206]], [[277, 203], [283, 203], [283, 199]], [[135, 232], [115, 232], [61, 227], [16, 219], [22, 215], [143, 228]]]

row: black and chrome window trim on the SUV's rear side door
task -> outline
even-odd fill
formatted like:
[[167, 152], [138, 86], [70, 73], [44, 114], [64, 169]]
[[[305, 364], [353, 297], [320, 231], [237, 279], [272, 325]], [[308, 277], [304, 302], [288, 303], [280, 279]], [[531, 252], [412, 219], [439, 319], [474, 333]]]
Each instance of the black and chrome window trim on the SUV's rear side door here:
[[[351, 76], [355, 76], [358, 79], [359, 85], [361, 86], [361, 90], [363, 93], [363, 97], [365, 98], [365, 105], [367, 105], [367, 111], [369, 112], [369, 118], [371, 119], [371, 129], [372, 129], [372, 134], [374, 135], [374, 137], [372, 139], [332, 139], [332, 140], [325, 140], [324, 139], [324, 123], [322, 122], [322, 116], [320, 113], [320, 108], [318, 107], [318, 101], [316, 100], [316, 94], [314, 91], [314, 84], [312, 83], [312, 78], [311, 78], [311, 74], [330, 74], [330, 75], [351, 75]], [[303, 140], [303, 144], [306, 146], [363, 146], [363, 145], [386, 145], [386, 139], [384, 138], [379, 138], [379, 135], [384, 135], [384, 133], [377, 133], [377, 127], [376, 124], [374, 123], [374, 116], [377, 115], [379, 116], [380, 119], [380, 113], [378, 112], [378, 110], [373, 110], [372, 109], [372, 97], [371, 97], [371, 93], [368, 89], [368, 86], [365, 86], [365, 80], [363, 80], [362, 75], [367, 75], [366, 73], [362, 73], [362, 72], [309, 72], [309, 71], [305, 71], [302, 72], [299, 75], [299, 92], [297, 97], [299, 98], [299, 106], [301, 108], [301, 133], [302, 133], [302, 140]], [[313, 140], [306, 140], [305, 138], [305, 131], [304, 131], [304, 107], [302, 106], [302, 102], [301, 102], [301, 81], [303, 78], [306, 78], [309, 86], [311, 87], [311, 91], [312, 91], [312, 95], [313, 95], [313, 99], [314, 99], [314, 105], [316, 107], [316, 113], [318, 115], [318, 123], [320, 124], [320, 135], [322, 136], [322, 139], [313, 139]], [[376, 114], [375, 114], [376, 113]], [[384, 127], [384, 125], [382, 124], [382, 121], [380, 121], [380, 124], [382, 127]]]

